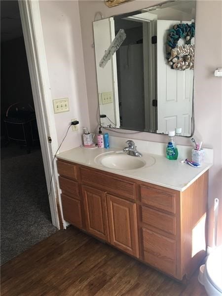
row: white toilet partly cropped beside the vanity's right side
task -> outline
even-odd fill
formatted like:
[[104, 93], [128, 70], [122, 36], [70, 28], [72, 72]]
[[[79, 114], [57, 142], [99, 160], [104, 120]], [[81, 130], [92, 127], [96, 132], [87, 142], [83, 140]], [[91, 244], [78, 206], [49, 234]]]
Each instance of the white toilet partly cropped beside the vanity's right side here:
[[222, 245], [210, 254], [205, 265], [201, 265], [198, 280], [208, 296], [222, 296]]

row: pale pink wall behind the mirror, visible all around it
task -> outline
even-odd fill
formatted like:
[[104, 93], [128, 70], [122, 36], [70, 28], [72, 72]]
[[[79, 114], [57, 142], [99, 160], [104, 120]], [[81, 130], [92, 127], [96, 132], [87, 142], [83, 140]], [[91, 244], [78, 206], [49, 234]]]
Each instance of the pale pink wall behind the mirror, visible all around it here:
[[[113, 8], [108, 8], [104, 1], [79, 1], [82, 44], [85, 65], [85, 77], [90, 110], [89, 120], [91, 131], [97, 130], [97, 82], [93, 43], [93, 27], [95, 13], [101, 11], [104, 18], [112, 15], [130, 12], [153, 6], [161, 1], [135, 0]], [[214, 70], [222, 67], [222, 1], [198, 0], [196, 6], [196, 52], [195, 52], [195, 134], [203, 146], [214, 148], [214, 166], [209, 175], [209, 209], [212, 229], [212, 205], [218, 197], [220, 203], [220, 241], [222, 242], [222, 78], [214, 77]], [[119, 134], [110, 132], [111, 135]], [[128, 134], [121, 136], [129, 138]], [[150, 133], [137, 133], [131, 139], [142, 139], [156, 142], [166, 142], [167, 136]], [[178, 144], [190, 145], [190, 139], [180, 138]], [[197, 205], [198, 206], [198, 205]], [[212, 241], [212, 231], [209, 231], [209, 243]]]

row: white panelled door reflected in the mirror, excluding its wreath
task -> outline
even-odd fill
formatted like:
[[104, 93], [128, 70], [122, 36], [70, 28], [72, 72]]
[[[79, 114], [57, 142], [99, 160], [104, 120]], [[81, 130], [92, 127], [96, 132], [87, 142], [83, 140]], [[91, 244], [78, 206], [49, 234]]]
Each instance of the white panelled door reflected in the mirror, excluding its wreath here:
[[193, 70], [171, 69], [165, 57], [168, 30], [178, 23], [180, 21], [157, 21], [157, 132], [168, 133], [181, 127], [182, 135], [190, 136]]

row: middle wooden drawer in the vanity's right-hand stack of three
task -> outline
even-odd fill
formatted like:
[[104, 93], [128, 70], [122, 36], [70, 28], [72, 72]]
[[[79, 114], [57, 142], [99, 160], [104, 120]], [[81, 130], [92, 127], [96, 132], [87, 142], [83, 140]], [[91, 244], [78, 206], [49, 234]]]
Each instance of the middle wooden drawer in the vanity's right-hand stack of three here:
[[140, 206], [142, 222], [168, 233], [176, 234], [176, 217]]

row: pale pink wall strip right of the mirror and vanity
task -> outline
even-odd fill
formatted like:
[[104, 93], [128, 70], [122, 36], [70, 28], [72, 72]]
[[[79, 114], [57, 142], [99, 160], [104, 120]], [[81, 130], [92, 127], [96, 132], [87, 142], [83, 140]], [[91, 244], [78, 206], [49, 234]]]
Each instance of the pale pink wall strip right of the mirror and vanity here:
[[[218, 236], [222, 243], [222, 78], [214, 76], [214, 70], [222, 67], [222, 1], [197, 1], [196, 26], [195, 135], [203, 139], [205, 146], [214, 148], [214, 166], [209, 175], [209, 208], [212, 213], [214, 198], [218, 197]], [[210, 229], [212, 220], [210, 215]], [[211, 233], [209, 231], [209, 238]]]

